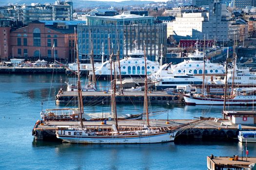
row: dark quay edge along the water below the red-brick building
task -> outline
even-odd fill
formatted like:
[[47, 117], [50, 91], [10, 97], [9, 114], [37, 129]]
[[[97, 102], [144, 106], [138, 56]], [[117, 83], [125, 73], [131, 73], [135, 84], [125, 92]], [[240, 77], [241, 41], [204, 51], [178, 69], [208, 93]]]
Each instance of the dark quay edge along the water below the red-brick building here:
[[6, 74], [39, 74], [39, 73], [53, 73], [58, 72], [58, 73], [65, 73], [66, 69], [65, 68], [27, 68], [27, 67], [17, 67], [17, 68], [0, 68], [0, 73], [6, 73]]

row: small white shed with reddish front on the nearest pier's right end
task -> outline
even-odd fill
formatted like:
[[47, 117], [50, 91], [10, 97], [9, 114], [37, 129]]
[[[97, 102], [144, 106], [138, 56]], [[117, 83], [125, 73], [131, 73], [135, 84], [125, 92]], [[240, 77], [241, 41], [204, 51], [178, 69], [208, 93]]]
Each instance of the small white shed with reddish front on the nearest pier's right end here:
[[256, 124], [256, 111], [223, 111], [224, 119], [229, 119], [233, 124]]

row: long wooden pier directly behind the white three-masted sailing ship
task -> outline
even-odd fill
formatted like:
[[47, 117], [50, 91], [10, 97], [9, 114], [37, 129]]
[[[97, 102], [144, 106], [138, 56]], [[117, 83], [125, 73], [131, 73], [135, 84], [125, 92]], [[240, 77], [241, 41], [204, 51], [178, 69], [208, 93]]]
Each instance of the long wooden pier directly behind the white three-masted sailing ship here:
[[[242, 125], [241, 129], [237, 129], [237, 125], [231, 124], [229, 120], [214, 119], [175, 119], [169, 120], [150, 120], [152, 126], [162, 127], [182, 127], [176, 135], [175, 140], [187, 140], [190, 138], [199, 138], [206, 140], [237, 140], [240, 130], [256, 131], [256, 125]], [[84, 126], [93, 126], [94, 128], [112, 128], [114, 121], [108, 120], [107, 124], [102, 125], [102, 121], [83, 121]], [[143, 126], [144, 120], [118, 120], [119, 126]], [[79, 125], [78, 121], [38, 121], [33, 128], [33, 135], [36, 139], [41, 140], [57, 140], [55, 130], [58, 127], [72, 127]], [[238, 141], [238, 140], [237, 140]]]

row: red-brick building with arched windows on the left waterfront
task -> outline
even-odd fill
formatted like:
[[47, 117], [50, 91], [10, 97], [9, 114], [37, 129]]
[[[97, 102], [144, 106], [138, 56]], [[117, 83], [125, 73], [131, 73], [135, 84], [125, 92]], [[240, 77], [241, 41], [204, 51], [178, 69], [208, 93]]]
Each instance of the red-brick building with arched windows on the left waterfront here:
[[45, 25], [37, 20], [17, 30], [0, 27], [0, 35], [5, 33], [3, 36], [6, 36], [0, 39], [0, 58], [40, 57], [50, 61], [54, 59], [55, 53], [56, 60], [73, 61], [74, 27], [77, 26], [65, 23]]

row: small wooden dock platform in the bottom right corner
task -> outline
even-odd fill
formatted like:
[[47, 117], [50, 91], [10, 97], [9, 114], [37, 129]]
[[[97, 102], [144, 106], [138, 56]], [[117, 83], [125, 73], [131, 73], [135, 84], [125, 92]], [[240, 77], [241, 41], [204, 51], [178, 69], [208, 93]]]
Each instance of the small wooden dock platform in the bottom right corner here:
[[249, 165], [255, 163], [256, 157], [247, 157], [247, 161], [245, 157], [243, 160], [239, 157], [237, 161], [233, 161], [228, 156], [207, 156], [207, 170], [255, 170], [249, 168]]

